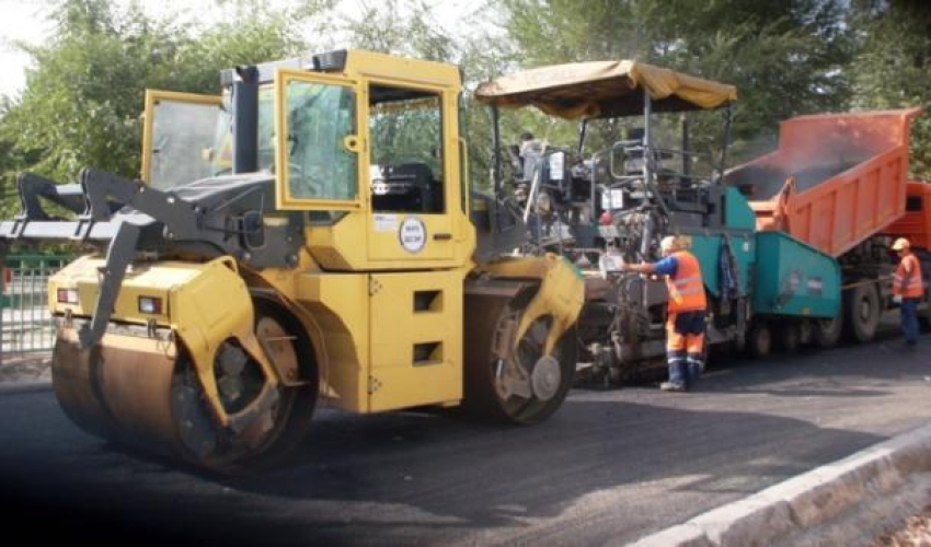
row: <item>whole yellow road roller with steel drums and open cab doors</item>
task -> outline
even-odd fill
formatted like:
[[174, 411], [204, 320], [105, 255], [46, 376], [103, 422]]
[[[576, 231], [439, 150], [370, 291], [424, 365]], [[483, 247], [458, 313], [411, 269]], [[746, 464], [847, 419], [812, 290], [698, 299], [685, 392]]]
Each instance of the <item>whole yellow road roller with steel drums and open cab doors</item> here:
[[147, 92], [141, 181], [20, 177], [0, 235], [100, 249], [49, 283], [74, 422], [229, 468], [294, 445], [319, 397], [517, 423], [559, 408], [584, 283], [510, 256], [520, 219], [470, 198], [456, 67], [334, 51], [221, 83]]

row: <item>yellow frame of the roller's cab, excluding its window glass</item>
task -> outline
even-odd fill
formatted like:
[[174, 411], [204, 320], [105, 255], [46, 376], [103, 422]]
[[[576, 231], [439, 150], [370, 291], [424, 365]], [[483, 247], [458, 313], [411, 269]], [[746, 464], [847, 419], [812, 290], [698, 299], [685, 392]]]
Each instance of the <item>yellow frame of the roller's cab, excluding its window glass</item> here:
[[[291, 128], [285, 115], [290, 85], [333, 85], [352, 90], [357, 97], [356, 119], [371, 119], [370, 90], [373, 85], [402, 89], [436, 97], [441, 116], [441, 183], [445, 211], [423, 214], [379, 211], [372, 194], [365, 187], [371, 167], [372, 136], [368, 124], [357, 124], [356, 131], [345, 136], [345, 147], [356, 156], [357, 186], [346, 199], [304, 199], [289, 191], [288, 138]], [[460, 163], [459, 70], [450, 65], [402, 59], [368, 51], [352, 51], [345, 69], [338, 74], [278, 69], [275, 74], [275, 126], [278, 143], [276, 171], [277, 206], [281, 210], [345, 211], [335, 223], [320, 223], [308, 229], [308, 242], [314, 260], [321, 267], [336, 270], [406, 270], [456, 268], [465, 266], [475, 247], [475, 229], [469, 221], [468, 196]], [[403, 223], [423, 223], [425, 242], [422, 249], [410, 252], [400, 244]]]

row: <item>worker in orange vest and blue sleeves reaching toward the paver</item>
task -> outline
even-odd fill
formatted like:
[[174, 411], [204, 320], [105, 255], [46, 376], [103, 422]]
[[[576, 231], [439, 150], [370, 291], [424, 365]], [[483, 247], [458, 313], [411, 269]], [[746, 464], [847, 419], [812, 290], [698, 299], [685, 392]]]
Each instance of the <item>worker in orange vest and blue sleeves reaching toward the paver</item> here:
[[625, 264], [625, 271], [666, 277], [669, 300], [666, 313], [666, 361], [669, 381], [659, 385], [666, 392], [685, 392], [704, 369], [704, 326], [708, 302], [701, 266], [688, 248], [691, 238], [667, 236], [659, 242], [663, 259], [657, 263]]

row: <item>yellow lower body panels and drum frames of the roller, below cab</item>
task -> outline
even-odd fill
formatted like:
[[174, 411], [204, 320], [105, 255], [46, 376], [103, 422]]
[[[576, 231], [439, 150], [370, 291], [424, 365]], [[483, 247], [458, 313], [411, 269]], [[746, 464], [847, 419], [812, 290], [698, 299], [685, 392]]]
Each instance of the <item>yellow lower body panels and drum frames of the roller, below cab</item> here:
[[[82, 257], [51, 277], [49, 306], [58, 316], [90, 315], [97, 295], [101, 258]], [[515, 338], [532, 319], [547, 313], [559, 319], [549, 333], [548, 350], [572, 326], [582, 304], [576, 271], [554, 255], [507, 259], [483, 265], [499, 279], [536, 279], [540, 282], [527, 306]], [[295, 290], [288, 300], [300, 306], [312, 324], [321, 370], [323, 395], [336, 407], [354, 412], [376, 412], [423, 405], [457, 405], [462, 399], [463, 287], [472, 268], [419, 272], [329, 274], [292, 272]], [[77, 289], [79, 301], [56, 301], [59, 291]], [[284, 295], [283, 295], [284, 296]], [[163, 311], [139, 311], [139, 298], [156, 298]], [[237, 338], [262, 362], [273, 383], [286, 382], [285, 370], [268, 362], [252, 333], [249, 288], [235, 272], [234, 261], [146, 264], [130, 271], [123, 283], [112, 321], [115, 325], [146, 326], [174, 336], [119, 334], [112, 328], [103, 340], [133, 359], [135, 351], [174, 358], [180, 340], [189, 352], [208, 400], [227, 421], [212, 381], [212, 360], [223, 340]], [[77, 344], [67, 322], [60, 336]]]

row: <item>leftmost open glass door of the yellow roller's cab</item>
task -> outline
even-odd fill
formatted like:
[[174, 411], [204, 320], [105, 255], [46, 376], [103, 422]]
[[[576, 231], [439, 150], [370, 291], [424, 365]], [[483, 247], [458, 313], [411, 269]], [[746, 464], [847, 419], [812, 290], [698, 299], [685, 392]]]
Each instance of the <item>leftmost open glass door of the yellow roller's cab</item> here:
[[168, 189], [230, 171], [227, 119], [220, 96], [146, 90], [142, 181]]

